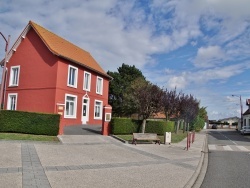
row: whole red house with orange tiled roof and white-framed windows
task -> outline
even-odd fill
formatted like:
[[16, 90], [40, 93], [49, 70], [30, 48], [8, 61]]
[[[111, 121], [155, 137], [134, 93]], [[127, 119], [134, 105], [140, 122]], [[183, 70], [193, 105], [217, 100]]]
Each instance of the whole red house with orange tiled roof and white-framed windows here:
[[4, 109], [59, 113], [61, 131], [102, 124], [111, 77], [89, 52], [30, 21], [7, 59]]

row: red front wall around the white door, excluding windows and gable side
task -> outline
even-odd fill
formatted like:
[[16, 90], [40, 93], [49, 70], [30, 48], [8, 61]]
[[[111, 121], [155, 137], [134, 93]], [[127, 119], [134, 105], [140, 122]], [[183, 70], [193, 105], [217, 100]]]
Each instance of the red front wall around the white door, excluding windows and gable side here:
[[77, 96], [77, 118], [76, 119], [64, 119], [64, 124], [82, 124], [81, 114], [82, 114], [82, 98], [86, 94], [86, 91], [83, 90], [83, 76], [84, 71], [91, 73], [91, 90], [87, 92], [87, 95], [90, 98], [90, 108], [89, 108], [89, 121], [87, 124], [98, 124], [101, 125], [101, 120], [94, 119], [94, 103], [95, 100], [103, 101], [103, 106], [108, 104], [108, 88], [109, 80], [103, 78], [103, 95], [96, 94], [96, 78], [97, 74], [90, 70], [84, 70], [81, 66], [75, 64], [74, 67], [78, 68], [78, 82], [77, 89], [67, 86], [68, 78], [68, 64], [64, 59], [60, 59], [58, 63], [58, 74], [57, 74], [57, 91], [56, 91], [56, 103], [64, 103], [65, 93], [76, 95]]

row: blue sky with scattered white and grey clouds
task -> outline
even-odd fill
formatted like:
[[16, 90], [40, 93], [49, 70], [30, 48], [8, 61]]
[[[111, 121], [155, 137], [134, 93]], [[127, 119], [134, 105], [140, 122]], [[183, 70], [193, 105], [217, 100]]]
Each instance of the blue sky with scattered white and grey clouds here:
[[[240, 97], [247, 110], [249, 7], [249, 0], [0, 0], [0, 32], [11, 35], [11, 47], [32, 20], [90, 52], [105, 71], [135, 65], [153, 84], [192, 94], [218, 120], [240, 117]], [[0, 36], [1, 59], [4, 48]]]

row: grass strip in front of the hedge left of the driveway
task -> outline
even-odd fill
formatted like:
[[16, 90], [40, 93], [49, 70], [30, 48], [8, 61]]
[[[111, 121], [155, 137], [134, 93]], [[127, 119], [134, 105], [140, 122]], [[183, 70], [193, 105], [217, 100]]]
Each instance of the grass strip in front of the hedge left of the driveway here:
[[0, 139], [59, 142], [56, 136], [21, 134], [21, 133], [0, 133]]

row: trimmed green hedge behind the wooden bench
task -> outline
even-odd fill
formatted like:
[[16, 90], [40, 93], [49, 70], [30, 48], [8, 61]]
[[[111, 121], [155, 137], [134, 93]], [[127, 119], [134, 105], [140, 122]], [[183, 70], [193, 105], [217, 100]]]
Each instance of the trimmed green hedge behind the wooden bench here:
[[[164, 135], [165, 132], [174, 131], [173, 121], [147, 121], [145, 132]], [[141, 132], [142, 120], [129, 118], [112, 118], [111, 134], [132, 134]]]

